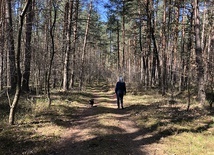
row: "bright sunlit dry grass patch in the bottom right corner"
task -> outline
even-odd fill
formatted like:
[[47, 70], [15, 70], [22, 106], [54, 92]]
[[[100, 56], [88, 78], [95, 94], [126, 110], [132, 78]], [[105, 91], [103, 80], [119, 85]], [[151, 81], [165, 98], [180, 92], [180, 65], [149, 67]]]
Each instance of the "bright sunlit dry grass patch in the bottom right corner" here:
[[164, 145], [165, 154], [186, 154], [186, 155], [212, 155], [213, 149], [212, 133], [184, 132], [161, 140]]

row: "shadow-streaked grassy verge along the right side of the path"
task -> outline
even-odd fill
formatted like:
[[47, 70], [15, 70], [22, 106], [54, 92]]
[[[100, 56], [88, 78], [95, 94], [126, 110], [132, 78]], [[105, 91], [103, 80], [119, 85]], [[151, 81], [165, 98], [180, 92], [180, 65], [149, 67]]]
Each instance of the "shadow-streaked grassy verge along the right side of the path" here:
[[[192, 105], [186, 111], [183, 99], [170, 105], [167, 98], [156, 95], [127, 96], [132, 120], [149, 131], [148, 139], [159, 139], [164, 154], [212, 155], [214, 154], [213, 111], [200, 110]], [[148, 146], [151, 147], [151, 146]], [[158, 153], [157, 153], [158, 154]]]

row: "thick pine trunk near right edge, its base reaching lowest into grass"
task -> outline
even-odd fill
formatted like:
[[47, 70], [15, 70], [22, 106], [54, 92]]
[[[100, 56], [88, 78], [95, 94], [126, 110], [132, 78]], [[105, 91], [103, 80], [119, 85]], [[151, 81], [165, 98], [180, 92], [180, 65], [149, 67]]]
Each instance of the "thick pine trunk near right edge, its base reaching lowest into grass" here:
[[204, 83], [204, 67], [203, 55], [200, 38], [200, 19], [199, 19], [199, 6], [198, 0], [194, 0], [194, 21], [195, 21], [195, 54], [197, 64], [197, 81], [198, 81], [198, 99], [199, 103], [204, 106], [205, 103], [205, 83]]

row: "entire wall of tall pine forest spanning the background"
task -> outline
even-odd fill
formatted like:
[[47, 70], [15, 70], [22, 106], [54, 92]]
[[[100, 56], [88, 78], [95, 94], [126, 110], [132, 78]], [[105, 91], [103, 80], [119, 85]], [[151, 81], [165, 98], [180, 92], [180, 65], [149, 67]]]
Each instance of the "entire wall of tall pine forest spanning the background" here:
[[[19, 41], [25, 92], [47, 93], [49, 84], [83, 90], [95, 81], [114, 83], [119, 75], [130, 87], [156, 87], [163, 95], [197, 88], [201, 104], [213, 90], [212, 1], [32, 0], [17, 40], [25, 3], [0, 0], [1, 90], [16, 89]], [[108, 9], [107, 21], [98, 4]]]

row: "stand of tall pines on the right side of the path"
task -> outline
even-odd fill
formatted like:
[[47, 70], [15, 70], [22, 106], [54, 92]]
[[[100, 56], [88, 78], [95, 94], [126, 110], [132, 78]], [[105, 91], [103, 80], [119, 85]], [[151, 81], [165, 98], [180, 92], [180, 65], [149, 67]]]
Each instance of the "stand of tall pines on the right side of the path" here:
[[[157, 87], [172, 97], [194, 88], [203, 105], [205, 92], [214, 86], [211, 6], [213, 2], [199, 0], [110, 0], [108, 51], [123, 66], [119, 73], [132, 86]], [[114, 59], [109, 65], [116, 66]]]

